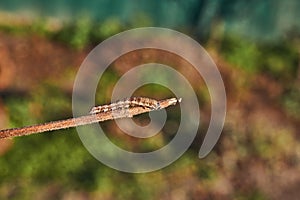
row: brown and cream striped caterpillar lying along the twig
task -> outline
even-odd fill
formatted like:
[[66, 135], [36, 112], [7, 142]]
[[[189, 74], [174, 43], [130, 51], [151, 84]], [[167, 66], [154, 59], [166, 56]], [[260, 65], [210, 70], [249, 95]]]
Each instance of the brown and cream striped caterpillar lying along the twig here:
[[150, 99], [147, 97], [130, 97], [111, 104], [95, 106], [91, 109], [89, 113], [97, 114], [101, 112], [112, 112], [115, 110], [122, 110], [122, 109], [127, 109], [129, 107], [136, 107], [136, 106], [157, 110], [160, 108], [160, 103], [155, 99]]

